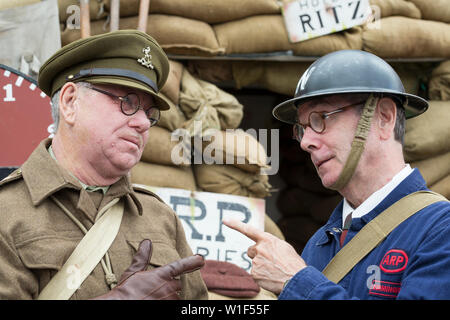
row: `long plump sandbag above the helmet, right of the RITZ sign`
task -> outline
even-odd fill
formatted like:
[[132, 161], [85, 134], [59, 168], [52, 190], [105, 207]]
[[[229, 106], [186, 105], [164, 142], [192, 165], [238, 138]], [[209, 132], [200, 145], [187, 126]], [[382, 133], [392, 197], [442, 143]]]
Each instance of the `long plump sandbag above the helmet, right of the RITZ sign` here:
[[387, 17], [379, 25], [364, 28], [363, 50], [382, 58], [450, 57], [450, 24]]

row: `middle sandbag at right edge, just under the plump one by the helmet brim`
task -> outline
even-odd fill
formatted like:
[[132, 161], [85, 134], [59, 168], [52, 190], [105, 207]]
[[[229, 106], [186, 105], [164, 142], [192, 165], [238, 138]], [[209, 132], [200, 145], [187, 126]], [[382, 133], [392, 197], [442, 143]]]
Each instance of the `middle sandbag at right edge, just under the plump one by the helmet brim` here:
[[411, 167], [418, 168], [430, 186], [450, 174], [450, 152], [411, 162]]

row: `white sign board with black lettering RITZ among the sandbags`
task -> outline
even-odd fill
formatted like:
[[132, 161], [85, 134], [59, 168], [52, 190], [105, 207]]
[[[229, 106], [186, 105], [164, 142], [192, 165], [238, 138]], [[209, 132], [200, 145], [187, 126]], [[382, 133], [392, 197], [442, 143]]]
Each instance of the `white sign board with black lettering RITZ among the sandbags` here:
[[283, 4], [290, 42], [300, 42], [367, 22], [369, 0], [295, 0]]

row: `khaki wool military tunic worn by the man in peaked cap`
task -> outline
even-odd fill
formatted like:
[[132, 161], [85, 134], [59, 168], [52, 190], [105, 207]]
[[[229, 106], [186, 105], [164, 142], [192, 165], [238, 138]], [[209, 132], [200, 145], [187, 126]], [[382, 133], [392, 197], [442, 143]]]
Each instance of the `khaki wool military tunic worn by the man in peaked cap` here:
[[[46, 139], [16, 172], [0, 182], [0, 299], [36, 299], [63, 266], [84, 233], [50, 198], [54, 195], [89, 229], [97, 212], [114, 198], [124, 200], [122, 223], [108, 250], [117, 279], [143, 239], [153, 243], [149, 269], [192, 255], [180, 220], [157, 196], [131, 186], [127, 177], [106, 194], [87, 192], [58, 166]], [[182, 299], [207, 299], [199, 271], [182, 275]], [[71, 299], [108, 292], [99, 263]]]

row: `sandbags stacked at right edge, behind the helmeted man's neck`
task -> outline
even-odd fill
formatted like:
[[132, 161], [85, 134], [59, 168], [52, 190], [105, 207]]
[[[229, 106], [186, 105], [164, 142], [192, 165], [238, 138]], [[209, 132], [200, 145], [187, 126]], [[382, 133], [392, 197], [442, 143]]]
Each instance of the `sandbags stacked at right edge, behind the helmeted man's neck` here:
[[405, 160], [428, 187], [450, 198], [450, 101], [429, 101], [428, 110], [406, 121]]

